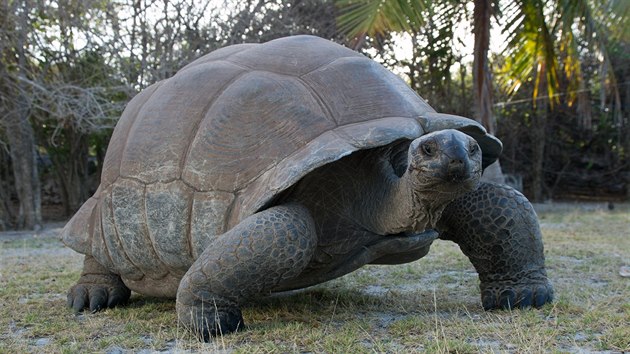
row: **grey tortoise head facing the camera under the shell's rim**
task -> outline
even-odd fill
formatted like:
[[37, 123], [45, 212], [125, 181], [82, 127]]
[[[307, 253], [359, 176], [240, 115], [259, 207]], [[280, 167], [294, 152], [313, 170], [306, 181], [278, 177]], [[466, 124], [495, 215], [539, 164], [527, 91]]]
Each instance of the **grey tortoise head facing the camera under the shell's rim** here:
[[446, 129], [423, 135], [409, 145], [412, 188], [423, 195], [455, 198], [474, 190], [481, 178], [481, 149], [472, 137]]

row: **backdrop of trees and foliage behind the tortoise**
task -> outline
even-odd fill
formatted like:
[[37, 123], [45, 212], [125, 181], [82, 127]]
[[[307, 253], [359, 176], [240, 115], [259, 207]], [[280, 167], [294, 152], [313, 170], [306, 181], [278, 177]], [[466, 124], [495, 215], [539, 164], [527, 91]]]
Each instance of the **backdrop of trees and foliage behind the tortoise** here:
[[[471, 62], [481, 5], [492, 15], [485, 66]], [[530, 198], [627, 199], [629, 9], [623, 0], [0, 0], [0, 229], [71, 215], [98, 186], [112, 128], [144, 87], [213, 49], [303, 33], [375, 58], [441, 112], [479, 116], [482, 68], [503, 172]], [[411, 49], [401, 54], [400, 43]]]

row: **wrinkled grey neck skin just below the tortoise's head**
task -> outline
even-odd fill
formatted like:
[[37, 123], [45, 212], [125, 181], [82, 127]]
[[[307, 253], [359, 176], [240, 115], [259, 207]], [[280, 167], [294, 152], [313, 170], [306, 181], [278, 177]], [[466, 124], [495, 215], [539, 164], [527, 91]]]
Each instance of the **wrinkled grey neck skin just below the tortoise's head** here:
[[371, 201], [372, 213], [365, 221], [380, 235], [418, 233], [435, 228], [442, 212], [454, 198], [466, 191], [438, 191], [418, 183], [417, 171], [401, 177], [388, 173], [384, 185]]

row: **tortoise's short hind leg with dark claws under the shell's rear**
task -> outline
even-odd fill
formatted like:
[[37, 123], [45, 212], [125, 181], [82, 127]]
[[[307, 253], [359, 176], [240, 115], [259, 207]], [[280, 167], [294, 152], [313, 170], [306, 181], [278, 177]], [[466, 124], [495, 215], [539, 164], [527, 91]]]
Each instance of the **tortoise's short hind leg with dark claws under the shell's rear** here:
[[85, 256], [81, 278], [68, 292], [68, 307], [75, 312], [81, 312], [84, 308], [96, 312], [124, 304], [129, 296], [131, 290], [120, 276], [108, 271], [94, 257]]

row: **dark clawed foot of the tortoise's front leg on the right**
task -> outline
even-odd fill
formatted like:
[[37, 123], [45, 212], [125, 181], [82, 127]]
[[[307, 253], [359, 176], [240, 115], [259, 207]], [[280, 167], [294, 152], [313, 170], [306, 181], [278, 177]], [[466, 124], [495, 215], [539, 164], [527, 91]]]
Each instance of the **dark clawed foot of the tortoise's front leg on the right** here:
[[485, 310], [539, 308], [553, 301], [553, 286], [549, 282], [495, 282], [482, 284], [481, 289]]

